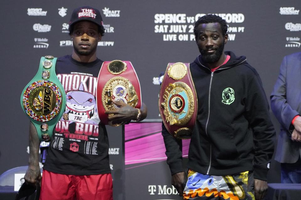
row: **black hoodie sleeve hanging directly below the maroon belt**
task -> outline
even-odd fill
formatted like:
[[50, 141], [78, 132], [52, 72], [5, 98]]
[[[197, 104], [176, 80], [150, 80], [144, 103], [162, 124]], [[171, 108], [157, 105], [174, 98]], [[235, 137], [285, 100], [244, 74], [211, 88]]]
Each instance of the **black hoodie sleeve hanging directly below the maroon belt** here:
[[162, 136], [166, 148], [167, 164], [172, 174], [183, 172], [182, 167], [182, 140], [177, 140], [165, 128], [162, 123]]

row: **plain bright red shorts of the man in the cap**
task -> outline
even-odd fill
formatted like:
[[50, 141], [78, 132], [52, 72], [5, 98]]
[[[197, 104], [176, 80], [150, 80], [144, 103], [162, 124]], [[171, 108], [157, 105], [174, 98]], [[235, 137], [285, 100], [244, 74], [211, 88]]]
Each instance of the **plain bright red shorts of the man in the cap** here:
[[40, 200], [113, 200], [112, 176], [77, 176], [43, 170]]

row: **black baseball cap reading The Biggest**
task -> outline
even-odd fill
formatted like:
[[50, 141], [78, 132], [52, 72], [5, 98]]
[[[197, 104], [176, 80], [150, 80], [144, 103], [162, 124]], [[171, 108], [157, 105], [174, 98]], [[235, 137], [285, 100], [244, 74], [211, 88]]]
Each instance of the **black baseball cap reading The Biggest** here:
[[73, 10], [69, 22], [69, 30], [74, 23], [79, 21], [90, 21], [96, 23], [98, 26], [103, 26], [103, 18], [99, 10], [90, 6], [82, 6]]

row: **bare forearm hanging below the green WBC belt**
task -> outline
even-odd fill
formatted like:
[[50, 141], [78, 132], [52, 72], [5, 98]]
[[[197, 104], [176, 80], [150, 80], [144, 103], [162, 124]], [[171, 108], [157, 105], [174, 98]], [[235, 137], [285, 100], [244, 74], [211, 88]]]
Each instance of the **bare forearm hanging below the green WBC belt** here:
[[29, 126], [29, 167], [39, 166], [39, 148], [40, 140], [34, 124], [30, 122]]

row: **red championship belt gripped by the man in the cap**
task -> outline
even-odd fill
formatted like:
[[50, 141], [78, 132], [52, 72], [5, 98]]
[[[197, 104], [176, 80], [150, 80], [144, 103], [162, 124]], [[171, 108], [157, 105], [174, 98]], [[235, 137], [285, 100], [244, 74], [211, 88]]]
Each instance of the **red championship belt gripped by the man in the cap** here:
[[111, 99], [127, 103], [133, 108], [141, 107], [140, 83], [131, 62], [104, 61], [98, 74], [96, 103], [99, 119], [104, 125], [118, 126], [120, 124], [109, 123], [105, 114], [105, 111], [120, 108]]

